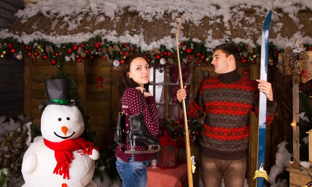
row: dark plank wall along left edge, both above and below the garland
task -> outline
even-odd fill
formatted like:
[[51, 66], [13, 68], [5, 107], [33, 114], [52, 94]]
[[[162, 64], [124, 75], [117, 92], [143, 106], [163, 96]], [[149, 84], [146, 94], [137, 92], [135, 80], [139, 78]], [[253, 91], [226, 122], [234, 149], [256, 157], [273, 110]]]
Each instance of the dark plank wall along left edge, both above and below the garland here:
[[[22, 0], [0, 0], [0, 30], [14, 22], [14, 13], [23, 9]], [[23, 113], [23, 66], [16, 58], [0, 59], [0, 116], [16, 118]]]

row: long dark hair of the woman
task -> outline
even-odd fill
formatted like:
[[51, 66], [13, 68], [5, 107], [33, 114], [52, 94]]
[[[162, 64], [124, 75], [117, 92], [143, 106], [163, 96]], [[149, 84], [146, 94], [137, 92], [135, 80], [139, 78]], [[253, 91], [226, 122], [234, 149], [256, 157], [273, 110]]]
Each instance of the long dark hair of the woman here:
[[[122, 64], [122, 68], [121, 68], [121, 81], [123, 83], [123, 88], [122, 91], [125, 91], [127, 88], [136, 88], [136, 87], [140, 87], [140, 85], [138, 83], [136, 83], [135, 81], [133, 81], [132, 79], [130, 79], [128, 77], [128, 72], [130, 70], [130, 64], [131, 62], [136, 59], [142, 57], [145, 59], [145, 61], [149, 63], [149, 60], [141, 53], [133, 53], [129, 56], [126, 57], [124, 63]], [[147, 92], [149, 92], [149, 83], [144, 85], [144, 88]]]

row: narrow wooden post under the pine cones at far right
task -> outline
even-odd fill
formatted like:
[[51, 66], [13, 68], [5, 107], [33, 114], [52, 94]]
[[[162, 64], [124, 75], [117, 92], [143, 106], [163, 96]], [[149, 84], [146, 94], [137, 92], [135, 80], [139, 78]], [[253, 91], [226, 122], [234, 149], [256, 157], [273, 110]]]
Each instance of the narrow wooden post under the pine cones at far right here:
[[299, 84], [293, 85], [293, 156], [298, 162], [299, 160]]

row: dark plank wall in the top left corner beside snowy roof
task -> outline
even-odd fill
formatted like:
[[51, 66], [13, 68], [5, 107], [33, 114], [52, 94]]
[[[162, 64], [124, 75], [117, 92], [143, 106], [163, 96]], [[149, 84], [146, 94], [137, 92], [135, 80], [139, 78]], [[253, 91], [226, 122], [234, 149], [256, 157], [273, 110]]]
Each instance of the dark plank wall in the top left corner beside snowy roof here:
[[12, 24], [15, 20], [14, 14], [23, 8], [22, 0], [0, 0], [0, 30]]

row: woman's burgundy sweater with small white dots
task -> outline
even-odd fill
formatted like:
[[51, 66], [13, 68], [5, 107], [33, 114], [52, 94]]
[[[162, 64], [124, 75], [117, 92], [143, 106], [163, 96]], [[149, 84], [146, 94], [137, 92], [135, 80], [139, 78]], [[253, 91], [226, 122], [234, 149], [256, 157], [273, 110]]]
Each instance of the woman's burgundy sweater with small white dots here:
[[[128, 132], [130, 130], [130, 115], [142, 113], [143, 107], [143, 95], [141, 91], [130, 88], [126, 89], [122, 96], [122, 107], [123, 112], [126, 114], [125, 126], [127, 132], [126, 142], [122, 145], [122, 150], [119, 147], [116, 148], [115, 157], [119, 157], [123, 161], [127, 162], [132, 154], [126, 154], [124, 151], [129, 150], [131, 147], [128, 140]], [[147, 130], [153, 136], [158, 135], [159, 124], [158, 124], [158, 111], [155, 103], [154, 96], [148, 96], [144, 99], [144, 122]], [[146, 146], [136, 146], [136, 150], [147, 150]], [[133, 154], [136, 162], [142, 162], [146, 160], [151, 160], [153, 158], [153, 153], [145, 154]]]

